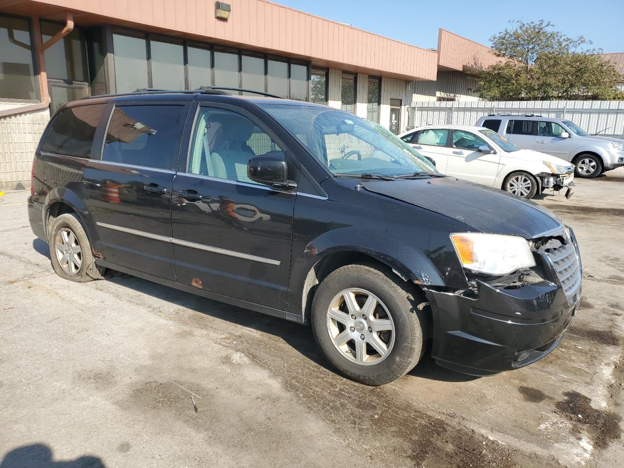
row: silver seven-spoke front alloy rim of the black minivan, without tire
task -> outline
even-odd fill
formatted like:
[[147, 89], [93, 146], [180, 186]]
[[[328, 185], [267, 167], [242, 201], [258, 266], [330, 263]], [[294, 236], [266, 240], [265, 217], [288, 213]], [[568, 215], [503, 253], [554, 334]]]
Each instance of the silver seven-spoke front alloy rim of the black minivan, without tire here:
[[386, 359], [394, 345], [394, 321], [373, 293], [351, 288], [334, 296], [327, 309], [329, 338], [353, 363], [371, 366]]

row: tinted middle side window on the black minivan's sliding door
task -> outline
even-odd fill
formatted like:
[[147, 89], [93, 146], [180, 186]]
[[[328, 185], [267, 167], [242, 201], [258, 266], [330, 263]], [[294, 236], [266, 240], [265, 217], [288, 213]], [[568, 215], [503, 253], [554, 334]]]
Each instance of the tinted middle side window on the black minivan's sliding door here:
[[175, 169], [186, 110], [183, 105], [115, 106], [102, 160]]

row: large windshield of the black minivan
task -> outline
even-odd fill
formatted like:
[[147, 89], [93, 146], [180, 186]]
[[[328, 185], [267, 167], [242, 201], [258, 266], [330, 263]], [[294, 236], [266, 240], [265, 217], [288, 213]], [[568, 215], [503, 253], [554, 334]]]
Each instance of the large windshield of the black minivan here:
[[342, 110], [305, 105], [261, 105], [336, 175], [439, 175], [411, 146]]

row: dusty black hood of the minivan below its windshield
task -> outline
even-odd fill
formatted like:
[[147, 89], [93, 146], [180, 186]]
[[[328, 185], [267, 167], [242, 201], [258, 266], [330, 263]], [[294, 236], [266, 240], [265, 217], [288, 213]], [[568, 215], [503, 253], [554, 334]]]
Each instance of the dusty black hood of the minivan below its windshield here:
[[563, 224], [537, 203], [453, 177], [360, 183], [370, 192], [439, 213], [484, 233], [530, 239]]

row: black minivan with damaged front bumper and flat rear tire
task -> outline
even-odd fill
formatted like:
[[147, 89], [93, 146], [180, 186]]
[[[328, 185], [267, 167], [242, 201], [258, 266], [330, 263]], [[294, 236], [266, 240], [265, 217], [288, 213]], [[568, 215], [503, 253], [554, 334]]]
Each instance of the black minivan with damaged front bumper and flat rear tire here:
[[301, 324], [361, 383], [431, 341], [487, 375], [550, 353], [580, 302], [569, 227], [444, 177], [373, 122], [309, 102], [145, 90], [59, 109], [28, 213], [62, 278], [116, 270]]

